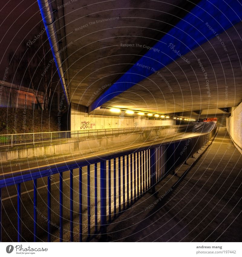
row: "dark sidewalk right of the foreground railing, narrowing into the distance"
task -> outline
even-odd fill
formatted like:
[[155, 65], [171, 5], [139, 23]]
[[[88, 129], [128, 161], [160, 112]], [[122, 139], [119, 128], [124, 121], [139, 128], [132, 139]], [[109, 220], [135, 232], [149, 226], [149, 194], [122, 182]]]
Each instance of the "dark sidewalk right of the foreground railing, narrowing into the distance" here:
[[218, 130], [177, 183], [188, 167], [180, 166], [176, 175], [156, 186], [157, 195], [147, 193], [112, 222], [107, 227], [108, 241], [240, 242], [242, 156], [226, 128]]

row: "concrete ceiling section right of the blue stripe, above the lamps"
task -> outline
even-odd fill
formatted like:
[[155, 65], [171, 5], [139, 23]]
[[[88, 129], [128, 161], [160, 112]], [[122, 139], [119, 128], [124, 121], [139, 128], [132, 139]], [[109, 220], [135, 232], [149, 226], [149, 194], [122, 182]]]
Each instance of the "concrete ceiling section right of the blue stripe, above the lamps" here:
[[[227, 52], [221, 42], [213, 38], [185, 55], [190, 65], [179, 58], [160, 70], [172, 92], [164, 79], [154, 73], [108, 101], [105, 106], [159, 113], [237, 106], [242, 100], [242, 42], [239, 35], [242, 35], [242, 22], [220, 35]], [[208, 79], [204, 78], [198, 59]]]

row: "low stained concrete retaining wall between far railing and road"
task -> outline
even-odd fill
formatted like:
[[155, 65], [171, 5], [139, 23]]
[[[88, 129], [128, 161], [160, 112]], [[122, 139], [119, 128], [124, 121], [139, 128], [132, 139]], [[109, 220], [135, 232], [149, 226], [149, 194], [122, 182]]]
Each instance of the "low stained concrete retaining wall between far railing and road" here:
[[[35, 145], [26, 145], [12, 147], [11, 149], [5, 149], [5, 151], [0, 152], [0, 161], [2, 166], [9, 166], [10, 162], [18, 161], [21, 163], [28, 163], [31, 160], [36, 162], [35, 158], [38, 160], [46, 161], [48, 157], [54, 157], [56, 161], [58, 158], [63, 156], [75, 155], [79, 158], [85, 153], [93, 153], [96, 151], [108, 152], [118, 146], [129, 146], [133, 143], [145, 142], [148, 139], [154, 138], [159, 139], [160, 137], [170, 135], [176, 132], [185, 131], [185, 127], [175, 127], [164, 130], [154, 130], [152, 132], [142, 132], [142, 133], [129, 133], [129, 134], [118, 134], [110, 135], [106, 137], [99, 138], [87, 138], [87, 139], [70, 139], [58, 142], [39, 143]], [[123, 150], [118, 150], [122, 152]]]

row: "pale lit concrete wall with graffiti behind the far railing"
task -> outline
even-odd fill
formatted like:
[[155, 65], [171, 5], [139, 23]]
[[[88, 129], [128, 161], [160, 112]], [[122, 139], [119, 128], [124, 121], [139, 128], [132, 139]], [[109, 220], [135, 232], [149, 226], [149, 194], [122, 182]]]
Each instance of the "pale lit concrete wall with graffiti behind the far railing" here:
[[175, 120], [149, 120], [148, 117], [87, 114], [87, 107], [71, 104], [71, 130], [132, 128], [175, 125]]

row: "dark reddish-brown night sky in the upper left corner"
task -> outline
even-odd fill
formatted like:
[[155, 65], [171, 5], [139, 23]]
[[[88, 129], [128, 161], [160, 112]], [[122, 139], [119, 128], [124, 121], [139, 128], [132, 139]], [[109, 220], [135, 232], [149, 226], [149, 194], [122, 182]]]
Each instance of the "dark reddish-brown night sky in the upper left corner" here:
[[[37, 34], [39, 25], [43, 22], [37, 1], [0, 1], [0, 80], [8, 67], [8, 53], [18, 51], [24, 38], [29, 40]], [[9, 78], [6, 81], [11, 82]]]

